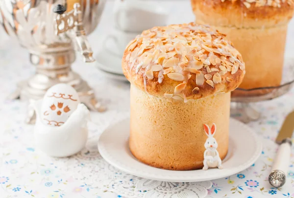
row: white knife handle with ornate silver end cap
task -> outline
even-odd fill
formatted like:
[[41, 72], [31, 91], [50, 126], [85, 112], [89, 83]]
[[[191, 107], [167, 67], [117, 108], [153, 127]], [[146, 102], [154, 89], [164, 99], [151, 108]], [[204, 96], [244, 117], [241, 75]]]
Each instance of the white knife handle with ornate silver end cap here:
[[288, 173], [290, 163], [291, 144], [290, 139], [283, 140], [275, 156], [269, 176], [269, 182], [274, 187], [281, 187], [286, 182], [286, 174]]

